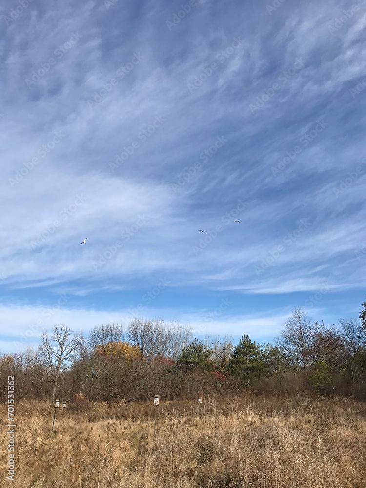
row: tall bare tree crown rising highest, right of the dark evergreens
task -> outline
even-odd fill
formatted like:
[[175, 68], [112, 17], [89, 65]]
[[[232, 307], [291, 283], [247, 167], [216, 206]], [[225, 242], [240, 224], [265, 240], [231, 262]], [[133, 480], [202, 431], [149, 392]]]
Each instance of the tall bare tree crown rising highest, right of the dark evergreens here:
[[316, 325], [312, 323], [312, 319], [307, 317], [301, 307], [296, 307], [285, 321], [285, 328], [276, 343], [279, 349], [291, 359], [293, 366], [305, 368], [311, 362], [315, 332]]

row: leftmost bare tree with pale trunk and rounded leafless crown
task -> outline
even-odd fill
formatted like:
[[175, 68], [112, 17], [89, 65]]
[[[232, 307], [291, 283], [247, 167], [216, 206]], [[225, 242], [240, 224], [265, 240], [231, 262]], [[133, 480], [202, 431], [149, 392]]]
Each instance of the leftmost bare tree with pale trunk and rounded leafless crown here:
[[77, 359], [82, 343], [82, 332], [73, 333], [67, 325], [54, 325], [51, 336], [47, 332], [42, 333], [39, 353], [53, 375], [53, 399], [56, 398], [59, 373]]

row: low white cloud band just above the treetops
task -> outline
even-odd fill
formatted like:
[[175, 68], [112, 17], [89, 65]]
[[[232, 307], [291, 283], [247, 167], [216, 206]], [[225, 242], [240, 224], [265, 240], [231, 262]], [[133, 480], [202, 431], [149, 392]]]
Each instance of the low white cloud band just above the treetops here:
[[[94, 310], [92, 308], [67, 307], [67, 295], [60, 295], [55, 304], [42, 306], [0, 306], [0, 321], [9, 325], [9, 332], [0, 342], [3, 351], [15, 352], [26, 346], [37, 347], [43, 331], [49, 330], [53, 324], [67, 324], [75, 331], [87, 334], [93, 327], [111, 321], [118, 322], [124, 327], [133, 318], [134, 308], [108, 310]], [[60, 305], [61, 304], [61, 305]], [[285, 310], [276, 310], [274, 314], [232, 315], [226, 312], [222, 317], [215, 317], [215, 309], [197, 309], [194, 312], [181, 312], [180, 321], [192, 328], [196, 335], [225, 334], [241, 336], [243, 333], [254, 335], [257, 340], [270, 337], [273, 332], [281, 330], [288, 316]], [[217, 313], [216, 313], [217, 314]], [[144, 318], [165, 317], [168, 324], [174, 319], [170, 309], [152, 309], [145, 306], [139, 316]], [[212, 317], [213, 319], [212, 319]]]

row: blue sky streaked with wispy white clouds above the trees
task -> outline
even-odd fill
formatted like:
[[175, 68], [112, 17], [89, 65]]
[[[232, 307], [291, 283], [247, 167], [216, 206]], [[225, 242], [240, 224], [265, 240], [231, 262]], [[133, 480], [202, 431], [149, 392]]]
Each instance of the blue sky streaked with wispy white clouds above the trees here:
[[22, 0], [0, 25], [2, 353], [61, 323], [358, 318], [366, 0]]

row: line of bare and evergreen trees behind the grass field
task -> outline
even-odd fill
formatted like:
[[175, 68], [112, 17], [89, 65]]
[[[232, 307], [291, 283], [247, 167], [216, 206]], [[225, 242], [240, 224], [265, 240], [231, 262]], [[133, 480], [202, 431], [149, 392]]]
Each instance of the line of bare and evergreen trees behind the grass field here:
[[274, 344], [244, 334], [193, 337], [188, 326], [133, 319], [86, 336], [67, 325], [44, 332], [37, 349], [0, 356], [0, 388], [14, 374], [18, 399], [144, 401], [238, 393], [352, 395], [366, 399], [366, 302], [359, 320], [313, 322], [292, 310]]

